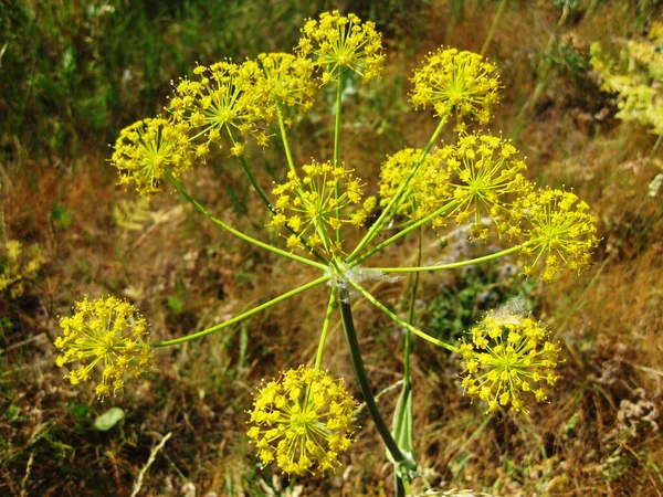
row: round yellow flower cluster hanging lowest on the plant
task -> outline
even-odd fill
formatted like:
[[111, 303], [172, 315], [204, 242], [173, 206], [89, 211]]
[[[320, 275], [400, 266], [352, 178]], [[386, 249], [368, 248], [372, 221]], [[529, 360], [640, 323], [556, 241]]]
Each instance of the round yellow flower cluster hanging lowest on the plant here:
[[291, 475], [334, 473], [352, 443], [356, 406], [343, 380], [301, 366], [254, 394], [249, 437], [263, 465], [276, 461]]

